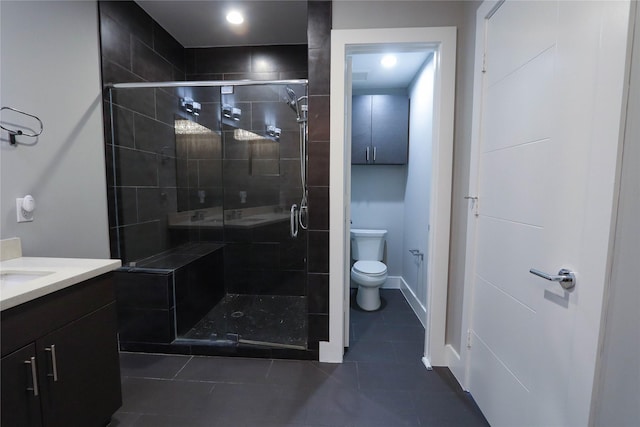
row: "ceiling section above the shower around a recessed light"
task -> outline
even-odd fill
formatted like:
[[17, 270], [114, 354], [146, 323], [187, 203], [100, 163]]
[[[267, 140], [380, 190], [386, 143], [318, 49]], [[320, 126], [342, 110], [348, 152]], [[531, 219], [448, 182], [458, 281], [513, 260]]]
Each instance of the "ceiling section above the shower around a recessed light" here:
[[[307, 43], [306, 0], [136, 0], [184, 47], [260, 46]], [[226, 21], [230, 9], [243, 24]]]

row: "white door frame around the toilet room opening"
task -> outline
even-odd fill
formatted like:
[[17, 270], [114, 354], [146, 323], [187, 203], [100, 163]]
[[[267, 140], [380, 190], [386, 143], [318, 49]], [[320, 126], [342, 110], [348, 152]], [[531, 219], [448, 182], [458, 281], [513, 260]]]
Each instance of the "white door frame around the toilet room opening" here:
[[[433, 191], [427, 274], [427, 318], [423, 362], [446, 365], [445, 327], [451, 223], [455, 106], [456, 27], [377, 28], [331, 31], [329, 166], [329, 341], [320, 361], [341, 363], [347, 343], [350, 267], [350, 112], [346, 55], [350, 46], [420, 44], [434, 48]], [[348, 117], [346, 115], [349, 115]]]

